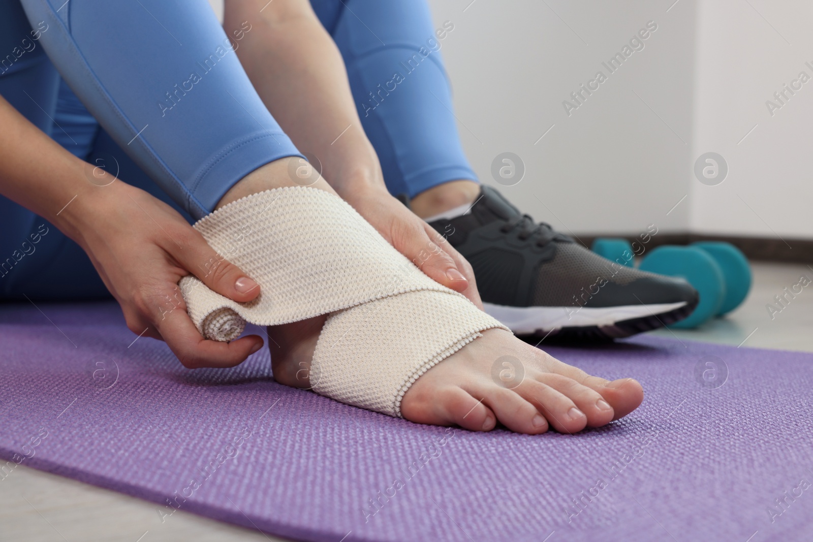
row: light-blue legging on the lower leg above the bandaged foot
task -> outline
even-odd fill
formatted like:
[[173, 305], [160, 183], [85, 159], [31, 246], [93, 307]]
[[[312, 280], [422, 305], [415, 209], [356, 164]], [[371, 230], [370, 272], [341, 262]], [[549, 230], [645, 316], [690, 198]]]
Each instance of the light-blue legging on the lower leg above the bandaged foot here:
[[[63, 3], [22, 2], [48, 25], [40, 41], [67, 84], [194, 218], [251, 171], [298, 155], [207, 2]], [[111, 62], [110, 50], [137, 57]]]

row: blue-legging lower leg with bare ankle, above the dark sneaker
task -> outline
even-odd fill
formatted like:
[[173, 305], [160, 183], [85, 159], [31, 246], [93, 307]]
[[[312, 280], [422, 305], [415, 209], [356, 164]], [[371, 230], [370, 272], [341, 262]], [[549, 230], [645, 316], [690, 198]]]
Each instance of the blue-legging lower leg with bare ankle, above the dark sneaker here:
[[479, 187], [460, 145], [440, 54], [454, 24], [434, 28], [420, 0], [311, 5], [345, 60], [389, 192], [411, 197], [420, 216], [473, 202]]

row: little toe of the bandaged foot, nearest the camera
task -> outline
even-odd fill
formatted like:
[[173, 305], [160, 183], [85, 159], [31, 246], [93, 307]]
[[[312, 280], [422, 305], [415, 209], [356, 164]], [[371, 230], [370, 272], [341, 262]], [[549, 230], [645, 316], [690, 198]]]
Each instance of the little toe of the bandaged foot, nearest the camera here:
[[497, 425], [489, 407], [463, 389], [446, 386], [429, 390], [417, 384], [406, 391], [401, 402], [401, 415], [411, 422], [456, 424], [469, 431], [491, 431]]

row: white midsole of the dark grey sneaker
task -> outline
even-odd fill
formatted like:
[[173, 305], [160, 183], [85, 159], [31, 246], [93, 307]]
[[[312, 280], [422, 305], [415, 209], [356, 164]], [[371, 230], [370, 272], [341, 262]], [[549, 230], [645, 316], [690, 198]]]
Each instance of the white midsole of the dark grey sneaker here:
[[611, 326], [624, 320], [671, 312], [685, 305], [686, 301], [600, 308], [579, 306], [515, 307], [483, 303], [485, 312], [498, 319], [517, 335], [528, 335], [539, 331], [549, 332], [561, 327]]

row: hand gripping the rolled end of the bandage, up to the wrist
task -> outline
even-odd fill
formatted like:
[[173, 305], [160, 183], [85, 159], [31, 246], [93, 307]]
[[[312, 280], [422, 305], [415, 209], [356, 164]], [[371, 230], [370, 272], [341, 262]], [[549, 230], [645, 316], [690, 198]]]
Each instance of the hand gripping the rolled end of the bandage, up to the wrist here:
[[65, 217], [70, 234], [119, 301], [130, 331], [164, 340], [189, 369], [235, 366], [263, 346], [256, 335], [230, 343], [205, 340], [189, 319], [178, 286], [185, 275], [239, 302], [257, 297], [259, 285], [172, 207], [120, 180], [73, 206]]

